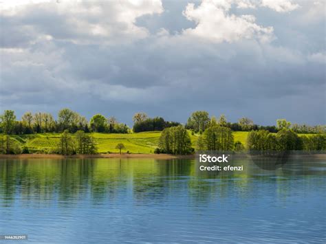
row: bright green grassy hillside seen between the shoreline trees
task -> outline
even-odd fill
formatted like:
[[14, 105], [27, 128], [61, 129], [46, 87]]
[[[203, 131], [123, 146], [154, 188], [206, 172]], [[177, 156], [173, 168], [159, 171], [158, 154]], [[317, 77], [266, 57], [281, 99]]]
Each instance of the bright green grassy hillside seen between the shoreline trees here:
[[[21, 146], [27, 146], [32, 152], [46, 152], [56, 148], [60, 133], [41, 133], [30, 135], [11, 135], [14, 140], [19, 142]], [[108, 133], [91, 133], [94, 136], [98, 146], [99, 153], [118, 153], [116, 145], [123, 143], [126, 149], [124, 152], [130, 153], [154, 153], [160, 131], [131, 133], [131, 134], [108, 134]], [[191, 132], [189, 131], [189, 135]], [[246, 145], [247, 131], [234, 131], [235, 142], [240, 141]], [[299, 134], [308, 135], [309, 134]], [[191, 135], [191, 142], [195, 147], [199, 135]]]

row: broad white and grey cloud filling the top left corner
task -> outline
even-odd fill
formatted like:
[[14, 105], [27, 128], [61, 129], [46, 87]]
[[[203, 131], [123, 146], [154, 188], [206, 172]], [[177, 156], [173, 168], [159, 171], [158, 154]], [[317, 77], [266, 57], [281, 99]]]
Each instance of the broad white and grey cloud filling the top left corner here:
[[43, 35], [78, 44], [110, 44], [146, 38], [148, 31], [135, 25], [136, 19], [162, 11], [161, 1], [14, 0], [3, 3], [1, 15], [13, 28], [17, 21], [12, 20], [19, 19], [21, 35], [30, 33], [30, 38]]

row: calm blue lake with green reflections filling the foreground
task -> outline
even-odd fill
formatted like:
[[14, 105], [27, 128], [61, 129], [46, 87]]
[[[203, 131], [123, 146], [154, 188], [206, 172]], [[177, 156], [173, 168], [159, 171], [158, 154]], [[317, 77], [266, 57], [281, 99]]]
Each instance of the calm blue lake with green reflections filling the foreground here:
[[[201, 172], [195, 159], [0, 159], [19, 243], [325, 243], [326, 161]], [[6, 242], [13, 243], [13, 242]]]

